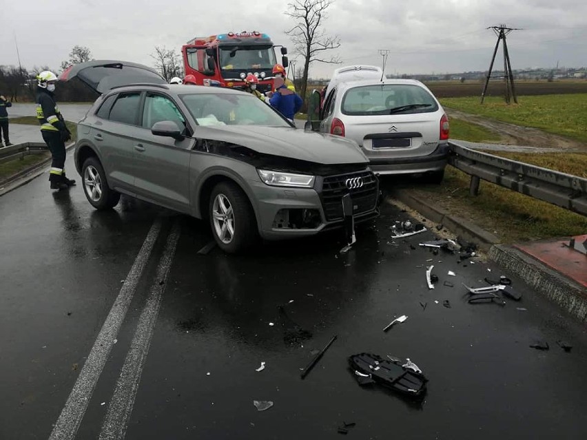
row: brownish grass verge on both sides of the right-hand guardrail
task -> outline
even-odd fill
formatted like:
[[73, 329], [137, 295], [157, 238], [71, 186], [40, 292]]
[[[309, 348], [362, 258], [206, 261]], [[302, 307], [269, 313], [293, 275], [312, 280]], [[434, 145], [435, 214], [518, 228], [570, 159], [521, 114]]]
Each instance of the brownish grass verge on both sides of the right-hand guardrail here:
[[[525, 154], [492, 151], [491, 154], [587, 176], [587, 154]], [[502, 242], [513, 243], [587, 233], [587, 218], [482, 180], [479, 196], [468, 193], [471, 176], [446, 167], [442, 185], [419, 185], [413, 192], [455, 216], [471, 220]]]

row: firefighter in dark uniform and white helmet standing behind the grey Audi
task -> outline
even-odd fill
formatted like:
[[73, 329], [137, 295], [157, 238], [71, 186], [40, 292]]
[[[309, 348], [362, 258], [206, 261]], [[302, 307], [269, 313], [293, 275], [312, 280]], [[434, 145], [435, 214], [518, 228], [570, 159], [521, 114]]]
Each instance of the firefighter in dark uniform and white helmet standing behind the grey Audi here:
[[37, 76], [37, 119], [41, 124], [41, 135], [51, 151], [52, 163], [49, 171], [51, 189], [65, 189], [75, 185], [75, 180], [65, 177], [65, 142], [71, 133], [55, 102], [53, 90], [56, 76], [52, 72], [41, 72]]

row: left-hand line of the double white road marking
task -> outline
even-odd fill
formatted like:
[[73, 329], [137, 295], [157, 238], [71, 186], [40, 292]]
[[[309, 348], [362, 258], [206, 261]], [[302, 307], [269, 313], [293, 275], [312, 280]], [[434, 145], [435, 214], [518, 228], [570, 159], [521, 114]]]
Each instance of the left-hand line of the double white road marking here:
[[59, 415], [59, 419], [57, 419], [51, 432], [50, 440], [73, 440], [75, 438], [81, 419], [83, 419], [87, 405], [92, 398], [94, 388], [96, 388], [96, 383], [114, 345], [114, 339], [116, 339], [125, 319], [138, 280], [141, 279], [141, 274], [149, 260], [160, 231], [161, 219], [156, 219], [143, 242], [141, 250], [136, 255], [118, 297], [116, 297], [112, 308], [110, 308], [110, 313], [108, 313], [96, 342], [94, 342], [94, 346], [90, 350], [90, 355], [87, 356], [87, 360], [83, 364], [68, 401], [65, 402], [65, 407], [61, 410], [61, 415]]

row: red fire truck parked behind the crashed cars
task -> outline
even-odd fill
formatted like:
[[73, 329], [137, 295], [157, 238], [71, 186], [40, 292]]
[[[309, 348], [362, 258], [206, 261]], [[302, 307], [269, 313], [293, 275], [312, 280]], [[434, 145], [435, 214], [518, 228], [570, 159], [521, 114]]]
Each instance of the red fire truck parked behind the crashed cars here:
[[183, 45], [181, 54], [185, 74], [194, 75], [198, 85], [242, 87], [252, 73], [264, 93], [273, 86], [271, 70], [278, 63], [274, 48], [281, 48], [281, 64], [287, 67], [287, 49], [257, 31], [196, 37]]

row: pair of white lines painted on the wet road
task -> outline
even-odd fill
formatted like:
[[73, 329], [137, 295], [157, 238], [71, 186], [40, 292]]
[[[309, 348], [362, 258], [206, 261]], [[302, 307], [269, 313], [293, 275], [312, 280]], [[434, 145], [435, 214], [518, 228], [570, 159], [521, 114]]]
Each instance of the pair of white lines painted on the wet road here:
[[[101, 328], [101, 331], [90, 350], [79, 377], [74, 384], [72, 392], [65, 403], [65, 407], [59, 415], [55, 426], [49, 437], [50, 440], [73, 440], [79, 429], [81, 420], [87, 410], [87, 405], [92, 399], [94, 388], [107, 362], [107, 359], [114, 346], [114, 339], [119, 333], [121, 325], [136, 291], [138, 280], [152, 253], [154, 244], [161, 232], [161, 219], [155, 220], [141, 250], [134, 260], [134, 264], [128, 273], [121, 291], [116, 297], [110, 313]], [[161, 260], [159, 260], [154, 284], [151, 287], [149, 297], [143, 307], [143, 312], [138, 321], [138, 326], [131, 342], [130, 350], [127, 353], [121, 375], [116, 381], [114, 396], [110, 401], [105, 419], [103, 421], [100, 439], [123, 439], [127, 422], [132, 412], [134, 397], [138, 390], [138, 382], [147, 358], [151, 344], [153, 329], [157, 320], [161, 296], [165, 291], [165, 280], [171, 268], [176, 245], [180, 235], [180, 227], [174, 222], [172, 231], [167, 237], [165, 249]]]

